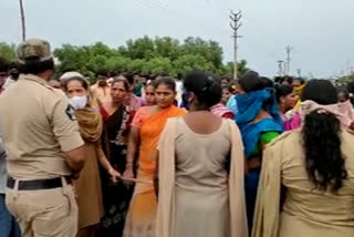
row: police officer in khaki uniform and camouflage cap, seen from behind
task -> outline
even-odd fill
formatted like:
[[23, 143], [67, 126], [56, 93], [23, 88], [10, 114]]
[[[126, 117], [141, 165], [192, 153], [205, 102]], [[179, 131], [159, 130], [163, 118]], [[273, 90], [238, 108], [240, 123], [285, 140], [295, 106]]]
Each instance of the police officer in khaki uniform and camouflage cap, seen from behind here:
[[67, 99], [52, 89], [46, 41], [17, 49], [21, 74], [0, 96], [0, 130], [8, 153], [6, 202], [24, 237], [74, 237], [77, 206], [71, 178], [84, 165], [84, 142]]

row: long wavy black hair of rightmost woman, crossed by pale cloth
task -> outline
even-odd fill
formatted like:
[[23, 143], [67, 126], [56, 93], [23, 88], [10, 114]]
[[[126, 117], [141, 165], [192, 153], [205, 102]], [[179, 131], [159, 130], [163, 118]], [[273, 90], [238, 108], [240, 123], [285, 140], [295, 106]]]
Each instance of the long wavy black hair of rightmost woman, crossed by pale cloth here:
[[[302, 92], [302, 101], [322, 105], [335, 104], [336, 89], [325, 80], [310, 81]], [[329, 187], [336, 193], [347, 177], [341, 151], [341, 123], [334, 114], [313, 111], [304, 117], [302, 140], [306, 172], [310, 181], [321, 190]]]

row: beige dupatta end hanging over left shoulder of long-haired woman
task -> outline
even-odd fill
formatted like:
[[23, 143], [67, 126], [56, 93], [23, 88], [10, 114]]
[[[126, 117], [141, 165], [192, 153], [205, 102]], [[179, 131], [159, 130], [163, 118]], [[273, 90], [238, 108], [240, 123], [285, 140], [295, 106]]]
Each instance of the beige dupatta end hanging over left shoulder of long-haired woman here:
[[[274, 140], [263, 154], [252, 237], [278, 237], [281, 202], [281, 146]], [[278, 145], [278, 146], [277, 146]]]

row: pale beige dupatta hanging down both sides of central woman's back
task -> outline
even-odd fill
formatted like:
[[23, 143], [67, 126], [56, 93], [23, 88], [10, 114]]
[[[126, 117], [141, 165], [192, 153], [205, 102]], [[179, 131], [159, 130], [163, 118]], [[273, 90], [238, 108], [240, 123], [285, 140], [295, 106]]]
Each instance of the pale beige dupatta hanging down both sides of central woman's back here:
[[[240, 132], [228, 120], [231, 131], [231, 166], [229, 175], [230, 237], [248, 237], [244, 205], [244, 155]], [[159, 140], [159, 196], [156, 237], [175, 237], [175, 134], [176, 120], [168, 120]]]

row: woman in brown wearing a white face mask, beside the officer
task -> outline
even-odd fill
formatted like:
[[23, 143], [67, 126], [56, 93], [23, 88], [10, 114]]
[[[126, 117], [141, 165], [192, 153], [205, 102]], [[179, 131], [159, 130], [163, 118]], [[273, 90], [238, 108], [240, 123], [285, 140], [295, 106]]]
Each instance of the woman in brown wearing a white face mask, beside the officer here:
[[111, 182], [117, 182], [121, 175], [112, 167], [102, 151], [103, 124], [100, 114], [90, 106], [88, 82], [84, 78], [73, 76], [65, 80], [64, 90], [75, 110], [80, 133], [87, 151], [85, 165], [74, 182], [79, 206], [77, 237], [94, 237], [104, 214], [100, 166]]

